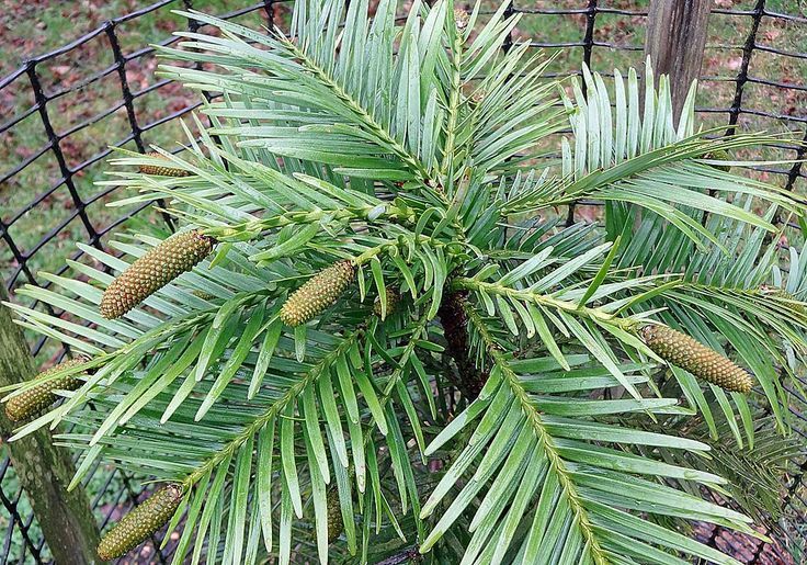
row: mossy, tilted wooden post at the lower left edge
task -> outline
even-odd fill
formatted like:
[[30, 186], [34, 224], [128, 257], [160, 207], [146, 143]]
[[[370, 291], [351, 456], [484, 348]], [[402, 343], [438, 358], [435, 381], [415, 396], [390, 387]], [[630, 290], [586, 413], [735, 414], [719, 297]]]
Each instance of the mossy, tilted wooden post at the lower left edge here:
[[[8, 301], [0, 280], [0, 302]], [[11, 310], [0, 304], [0, 386], [19, 383], [34, 374], [34, 360], [22, 330], [12, 321]], [[10, 436], [13, 426], [0, 409], [0, 432]], [[76, 468], [67, 450], [52, 443], [47, 429], [5, 443], [11, 463], [25, 489], [55, 563], [89, 565], [100, 563], [98, 528], [83, 488], [67, 491]]]

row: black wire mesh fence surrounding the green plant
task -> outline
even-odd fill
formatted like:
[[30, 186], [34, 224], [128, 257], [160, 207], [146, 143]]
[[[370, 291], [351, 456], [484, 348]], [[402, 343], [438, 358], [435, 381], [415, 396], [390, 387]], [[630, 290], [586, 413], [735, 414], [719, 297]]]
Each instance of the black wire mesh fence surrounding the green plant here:
[[[614, 67], [641, 68], [648, 3], [515, 0], [510, 11], [523, 16], [512, 39], [532, 37], [534, 47], [557, 50], [547, 69], [552, 76], [568, 74], [581, 63], [603, 76], [612, 75]], [[282, 24], [289, 11], [279, 0], [225, 4], [229, 11], [219, 15], [252, 27]], [[183, 138], [179, 118], [201, 104], [192, 93], [154, 75], [151, 44], [170, 45], [178, 38], [169, 32], [200, 29], [198, 22], [172, 14], [175, 8], [194, 3], [161, 0], [144, 5], [0, 79], [0, 264], [10, 291], [23, 283], [48, 286], [41, 271], [69, 275], [66, 257], [90, 260], [83, 251], [75, 251], [72, 241], [103, 249], [110, 234], [123, 227], [149, 224], [152, 230], [172, 229], [170, 218], [150, 204], [106, 207], [117, 196], [115, 188], [99, 190], [93, 181], [102, 178], [109, 146], [139, 152], [151, 144], [179, 148], [174, 143]], [[65, 78], [65, 68], [78, 72]], [[697, 112], [706, 126], [725, 125], [729, 133], [789, 131], [807, 140], [807, 18], [798, 2], [716, 0], [702, 75]], [[787, 190], [805, 190], [804, 145], [782, 143], [762, 157], [793, 162], [760, 166], [753, 174]], [[569, 218], [591, 221], [592, 210], [578, 206]], [[48, 307], [47, 314], [61, 313]], [[65, 353], [61, 343], [31, 339], [43, 365]], [[795, 431], [807, 440], [807, 399], [792, 393]], [[807, 511], [807, 460], [797, 465], [784, 500], [789, 517], [800, 518], [793, 523], [804, 522]], [[143, 496], [139, 478], [105, 466], [90, 474], [86, 483], [101, 527]], [[0, 524], [5, 527], [0, 563], [47, 563], [36, 519], [16, 485], [5, 457], [0, 463]], [[807, 558], [798, 547], [805, 533], [778, 532], [770, 544], [715, 528], [695, 530], [700, 539], [743, 563], [759, 564]], [[161, 541], [145, 544], [137, 562], [164, 563], [172, 544], [169, 540], [160, 550]]]

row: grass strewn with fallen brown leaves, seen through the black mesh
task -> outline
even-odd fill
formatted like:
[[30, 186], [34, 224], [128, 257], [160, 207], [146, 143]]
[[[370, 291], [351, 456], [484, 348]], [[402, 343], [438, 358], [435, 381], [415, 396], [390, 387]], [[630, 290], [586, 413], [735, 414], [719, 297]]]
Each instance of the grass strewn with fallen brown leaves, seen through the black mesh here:
[[[487, 0], [493, 5], [493, 0]], [[59, 47], [88, 33], [110, 18], [128, 13], [135, 9], [151, 3], [150, 0], [87, 0], [82, 2], [19, 2], [15, 0], [0, 0], [0, 32], [4, 32], [4, 57], [0, 59], [0, 77], [11, 74], [26, 58]], [[253, 0], [194, 0], [194, 7], [211, 13], [223, 13], [254, 3]], [[734, 8], [750, 10], [752, 0], [716, 0], [718, 8]], [[185, 29], [186, 20], [170, 13], [170, 9], [180, 2], [161, 8], [150, 14], [122, 23], [116, 33], [120, 37], [124, 54], [130, 54], [148, 45], [161, 41], [178, 29]], [[584, 8], [584, 0], [538, 0], [527, 2], [516, 0], [519, 7], [539, 7], [552, 9]], [[649, 0], [601, 0], [600, 5], [641, 12], [647, 10]], [[773, 12], [799, 14], [803, 10], [799, 0], [769, 0], [768, 9]], [[287, 14], [284, 5], [277, 5], [281, 16]], [[265, 23], [262, 13], [252, 13], [238, 20], [250, 26]], [[713, 14], [709, 20], [707, 48], [704, 56], [703, 75], [712, 80], [704, 81], [700, 90], [698, 105], [702, 108], [727, 108], [734, 99], [735, 84], [730, 82], [737, 76], [742, 60], [741, 47], [748, 35], [751, 19], [748, 16]], [[526, 39], [532, 37], [538, 43], [571, 43], [581, 42], [586, 30], [586, 16], [578, 15], [536, 15], [525, 13], [515, 30], [515, 37]], [[614, 67], [626, 69], [629, 66], [641, 67], [643, 55], [640, 47], [645, 41], [645, 18], [641, 15], [618, 15], [600, 13], [596, 16], [594, 39], [612, 44], [613, 47], [595, 47], [591, 58], [593, 70], [607, 74]], [[776, 49], [794, 53], [807, 53], [807, 25], [804, 23], [784, 22], [782, 20], [763, 19], [758, 44]], [[632, 50], [638, 48], [639, 50]], [[552, 49], [548, 49], [552, 52]], [[572, 47], [562, 49], [554, 63], [550, 71], [568, 71], [577, 69], [582, 60], [582, 48]], [[45, 92], [53, 94], [61, 89], [75, 88], [93, 74], [107, 68], [114, 63], [109, 41], [100, 34], [67, 54], [37, 65]], [[157, 60], [154, 54], [145, 55], [126, 65], [126, 79], [133, 92], [140, 91], [155, 84]], [[804, 59], [781, 57], [758, 50], [751, 59], [749, 68], [751, 77], [775, 80], [783, 83], [806, 84], [807, 65]], [[139, 97], [135, 101], [135, 115], [138, 124], [160, 120], [172, 112], [179, 111], [196, 101], [194, 93], [177, 86], [167, 84], [160, 89]], [[102, 114], [110, 108], [123, 102], [120, 78], [117, 72], [87, 84], [64, 97], [48, 102], [47, 111], [57, 133], [64, 133], [78, 123], [92, 121], [93, 116]], [[30, 84], [23, 75], [16, 80], [0, 89], [0, 124], [30, 109], [34, 103]], [[807, 93], [797, 89], [780, 89], [761, 84], [748, 84], [743, 108], [768, 111], [782, 115], [805, 115]], [[728, 120], [726, 113], [703, 114], [705, 124], [720, 125]], [[784, 129], [804, 129], [804, 124], [778, 122], [750, 114], [742, 114], [738, 127], [741, 131], [782, 132]], [[99, 120], [87, 128], [66, 136], [59, 145], [66, 158], [66, 165], [71, 168], [80, 166], [93, 156], [104, 151], [109, 145], [117, 145], [130, 133], [130, 125], [125, 108], [121, 108], [111, 115]], [[174, 148], [175, 140], [182, 139], [183, 134], [179, 125], [170, 122], [143, 135], [143, 142]], [[15, 168], [37, 149], [48, 143], [44, 134], [42, 120], [33, 113], [4, 133], [0, 133], [0, 178]], [[129, 142], [124, 145], [135, 149]], [[770, 152], [765, 158], [792, 157], [792, 154]], [[104, 160], [83, 168], [72, 178], [76, 194], [84, 202], [91, 202], [86, 210], [87, 218], [96, 231], [105, 229], [122, 214], [120, 208], [105, 206], [111, 200], [123, 196], [121, 193], [98, 197], [99, 189], [93, 182], [103, 177], [106, 165]], [[785, 166], [782, 166], [783, 168]], [[781, 178], [771, 178], [761, 173], [772, 182], [782, 183]], [[12, 179], [0, 184], [0, 219], [8, 223], [15, 217], [18, 211], [25, 210], [36, 202], [32, 210], [21, 215], [9, 228], [9, 234], [23, 253], [35, 251], [27, 261], [31, 270], [56, 271], [65, 263], [65, 258], [76, 251], [77, 240], [87, 241], [89, 231], [81, 217], [75, 217], [73, 196], [66, 185], [59, 185], [53, 192], [39, 196], [58, 184], [61, 178], [59, 166], [53, 151], [46, 151], [32, 165], [15, 174]], [[804, 191], [804, 182], [799, 181], [796, 188]], [[96, 199], [96, 200], [95, 200]], [[156, 214], [140, 215], [139, 228], [146, 229], [148, 223], [159, 223]], [[65, 224], [62, 226], [62, 224]], [[130, 224], [129, 224], [130, 225]], [[42, 244], [50, 233], [55, 237]], [[16, 268], [11, 250], [0, 244], [0, 278], [8, 281]], [[26, 282], [25, 276], [18, 281]], [[48, 359], [57, 350], [57, 344], [50, 344], [43, 350], [41, 357]], [[106, 477], [106, 473], [98, 474]], [[93, 478], [90, 491], [96, 493], [102, 488], [103, 479]], [[107, 493], [116, 493], [122, 485], [112, 484]], [[13, 470], [9, 470], [3, 478], [2, 489], [5, 493], [16, 493]], [[25, 508], [23, 497], [21, 509], [24, 516], [30, 513]], [[3, 522], [5, 520], [5, 522]], [[0, 512], [0, 530], [4, 530], [9, 516]], [[37, 539], [36, 532], [32, 533]], [[12, 538], [12, 558], [19, 556], [21, 550], [19, 531]]]

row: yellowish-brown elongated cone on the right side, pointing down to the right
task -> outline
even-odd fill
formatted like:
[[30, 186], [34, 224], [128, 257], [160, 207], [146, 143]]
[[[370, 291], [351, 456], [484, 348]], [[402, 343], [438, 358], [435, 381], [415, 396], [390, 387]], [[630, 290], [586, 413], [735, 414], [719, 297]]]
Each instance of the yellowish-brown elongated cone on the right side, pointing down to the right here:
[[657, 355], [685, 369], [725, 391], [747, 394], [751, 391], [751, 376], [745, 369], [723, 357], [690, 336], [667, 326], [645, 326], [641, 337]]

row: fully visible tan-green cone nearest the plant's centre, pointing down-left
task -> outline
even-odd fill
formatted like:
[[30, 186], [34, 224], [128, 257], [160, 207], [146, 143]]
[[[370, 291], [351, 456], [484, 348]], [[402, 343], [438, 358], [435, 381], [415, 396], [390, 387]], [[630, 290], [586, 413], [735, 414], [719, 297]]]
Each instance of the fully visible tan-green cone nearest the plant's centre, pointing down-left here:
[[288, 326], [310, 320], [339, 300], [355, 274], [350, 261], [339, 261], [322, 269], [288, 297], [281, 308], [281, 320]]

